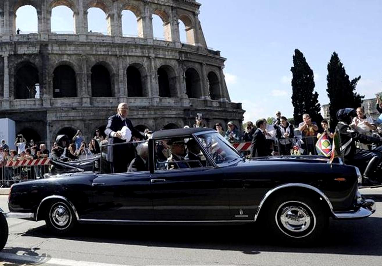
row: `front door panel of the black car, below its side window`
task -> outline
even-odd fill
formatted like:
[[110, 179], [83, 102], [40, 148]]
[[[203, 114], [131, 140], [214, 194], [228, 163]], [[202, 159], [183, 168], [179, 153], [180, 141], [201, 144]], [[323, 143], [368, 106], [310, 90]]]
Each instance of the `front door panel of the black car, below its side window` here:
[[228, 189], [222, 169], [211, 163], [172, 170], [160, 169], [158, 162], [155, 165], [151, 176], [155, 220], [230, 219]]

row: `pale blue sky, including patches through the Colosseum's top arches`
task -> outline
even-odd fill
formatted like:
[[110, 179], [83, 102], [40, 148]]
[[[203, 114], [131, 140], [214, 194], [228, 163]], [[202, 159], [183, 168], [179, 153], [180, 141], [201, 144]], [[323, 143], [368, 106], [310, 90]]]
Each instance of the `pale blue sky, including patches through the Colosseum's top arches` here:
[[[243, 103], [244, 121], [274, 116], [280, 110], [293, 116], [292, 56], [303, 52], [314, 72], [320, 104], [327, 104], [327, 63], [338, 53], [350, 78], [361, 75], [357, 92], [374, 98], [382, 91], [382, 2], [380, 0], [199, 0], [207, 46], [227, 58], [225, 80], [231, 101]], [[89, 30], [107, 32], [105, 13], [88, 10]], [[20, 8], [16, 27], [37, 31], [37, 15]], [[122, 16], [123, 34], [137, 35], [136, 18]], [[154, 37], [163, 38], [162, 21], [154, 15]], [[52, 10], [52, 31], [73, 32], [73, 12]], [[184, 25], [180, 24], [185, 42]]]

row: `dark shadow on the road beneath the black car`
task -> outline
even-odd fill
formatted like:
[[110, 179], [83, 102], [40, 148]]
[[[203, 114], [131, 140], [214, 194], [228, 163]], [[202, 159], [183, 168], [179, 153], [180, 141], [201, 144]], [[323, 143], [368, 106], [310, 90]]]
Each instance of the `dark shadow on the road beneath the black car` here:
[[352, 221], [332, 220], [323, 243], [314, 247], [286, 247], [288, 243], [269, 240], [260, 231], [247, 226], [79, 225], [68, 236], [52, 235], [45, 226], [28, 230], [23, 236], [125, 245], [236, 250], [253, 255], [264, 251], [382, 255], [382, 218], [378, 217]]

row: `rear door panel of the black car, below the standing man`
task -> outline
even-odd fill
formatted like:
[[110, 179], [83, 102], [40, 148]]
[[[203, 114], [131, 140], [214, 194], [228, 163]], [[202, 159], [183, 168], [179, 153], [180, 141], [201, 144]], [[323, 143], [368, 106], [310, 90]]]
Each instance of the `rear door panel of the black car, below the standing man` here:
[[84, 219], [153, 220], [150, 172], [99, 175]]

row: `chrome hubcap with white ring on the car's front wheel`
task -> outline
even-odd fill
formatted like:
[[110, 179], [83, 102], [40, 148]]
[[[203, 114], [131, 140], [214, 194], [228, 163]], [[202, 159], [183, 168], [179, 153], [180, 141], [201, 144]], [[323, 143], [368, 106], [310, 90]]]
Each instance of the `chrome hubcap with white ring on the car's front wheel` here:
[[311, 207], [301, 201], [286, 201], [278, 206], [275, 221], [285, 235], [307, 237], [316, 228], [316, 216]]

